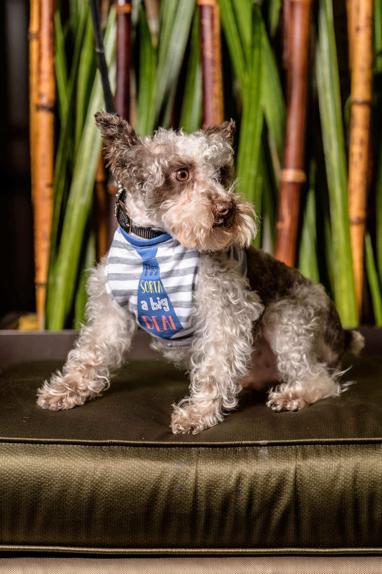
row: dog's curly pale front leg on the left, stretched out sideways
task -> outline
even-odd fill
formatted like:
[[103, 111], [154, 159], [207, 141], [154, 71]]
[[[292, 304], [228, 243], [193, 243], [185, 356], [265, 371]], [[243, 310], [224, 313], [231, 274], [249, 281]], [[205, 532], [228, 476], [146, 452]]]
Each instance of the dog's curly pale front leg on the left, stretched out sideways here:
[[106, 293], [106, 259], [92, 270], [87, 290], [87, 323], [62, 371], [38, 389], [37, 404], [44, 409], [71, 409], [98, 396], [110, 384], [110, 372], [118, 369], [137, 329], [134, 316]]

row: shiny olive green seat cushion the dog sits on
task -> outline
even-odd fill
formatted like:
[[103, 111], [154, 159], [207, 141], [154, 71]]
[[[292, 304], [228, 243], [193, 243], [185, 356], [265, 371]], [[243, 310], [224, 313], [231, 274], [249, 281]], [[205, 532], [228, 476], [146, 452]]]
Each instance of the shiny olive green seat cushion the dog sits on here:
[[382, 358], [353, 363], [340, 398], [277, 414], [245, 391], [194, 436], [170, 432], [187, 382], [165, 363], [62, 412], [35, 404], [57, 363], [3, 367], [0, 549], [381, 552]]

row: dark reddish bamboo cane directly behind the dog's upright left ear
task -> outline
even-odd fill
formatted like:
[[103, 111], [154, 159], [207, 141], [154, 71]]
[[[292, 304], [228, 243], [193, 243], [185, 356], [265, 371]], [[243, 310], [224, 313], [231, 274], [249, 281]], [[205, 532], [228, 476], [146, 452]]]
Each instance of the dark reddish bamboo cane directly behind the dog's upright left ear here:
[[[131, 0], [116, 0], [115, 7], [117, 25], [115, 109], [121, 118], [128, 120], [130, 117]], [[117, 227], [114, 216], [117, 187], [114, 179], [109, 179], [107, 190], [109, 193], [108, 243], [110, 245]]]

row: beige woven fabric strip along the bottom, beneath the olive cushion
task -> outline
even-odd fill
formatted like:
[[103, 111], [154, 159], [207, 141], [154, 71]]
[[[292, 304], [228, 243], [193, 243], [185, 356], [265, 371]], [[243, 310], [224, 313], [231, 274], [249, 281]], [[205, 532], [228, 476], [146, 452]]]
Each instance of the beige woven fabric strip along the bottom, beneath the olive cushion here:
[[0, 559], [0, 574], [377, 574], [379, 556]]

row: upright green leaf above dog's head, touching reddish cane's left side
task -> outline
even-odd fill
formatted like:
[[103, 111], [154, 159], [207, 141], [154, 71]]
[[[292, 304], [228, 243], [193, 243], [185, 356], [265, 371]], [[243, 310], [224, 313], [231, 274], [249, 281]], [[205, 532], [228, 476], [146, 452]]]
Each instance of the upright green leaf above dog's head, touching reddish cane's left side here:
[[180, 127], [192, 133], [201, 125], [202, 73], [200, 65], [199, 13], [195, 10], [191, 30], [190, 55], [180, 116]]

